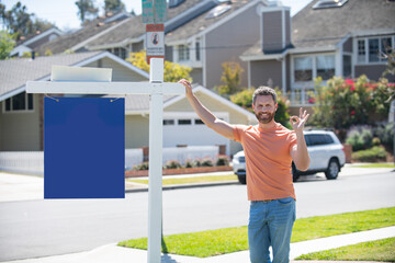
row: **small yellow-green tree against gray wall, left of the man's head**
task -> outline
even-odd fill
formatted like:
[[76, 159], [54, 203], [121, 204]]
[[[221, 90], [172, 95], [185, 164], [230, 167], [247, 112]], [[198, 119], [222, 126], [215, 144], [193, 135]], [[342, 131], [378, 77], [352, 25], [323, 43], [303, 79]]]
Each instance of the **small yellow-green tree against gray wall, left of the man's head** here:
[[221, 95], [230, 95], [241, 90], [241, 73], [244, 69], [238, 62], [227, 61], [223, 62], [224, 69], [221, 81], [225, 84], [216, 87]]

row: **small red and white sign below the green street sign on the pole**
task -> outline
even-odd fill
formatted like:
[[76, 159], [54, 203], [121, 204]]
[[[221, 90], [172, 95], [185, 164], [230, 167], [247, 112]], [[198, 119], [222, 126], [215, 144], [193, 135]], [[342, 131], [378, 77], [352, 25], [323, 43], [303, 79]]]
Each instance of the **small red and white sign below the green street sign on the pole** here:
[[165, 25], [146, 25], [147, 62], [153, 57], [165, 58]]

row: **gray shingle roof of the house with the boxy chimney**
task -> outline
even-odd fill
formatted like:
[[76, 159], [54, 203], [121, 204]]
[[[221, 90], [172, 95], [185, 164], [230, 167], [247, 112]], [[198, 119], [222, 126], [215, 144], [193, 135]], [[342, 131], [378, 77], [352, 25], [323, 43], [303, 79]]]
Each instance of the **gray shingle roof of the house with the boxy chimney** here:
[[[348, 0], [341, 8], [313, 9], [312, 1], [292, 18], [291, 41], [295, 48], [334, 48], [357, 31], [395, 30], [395, 2], [386, 0]], [[264, 55], [261, 43], [244, 53]]]

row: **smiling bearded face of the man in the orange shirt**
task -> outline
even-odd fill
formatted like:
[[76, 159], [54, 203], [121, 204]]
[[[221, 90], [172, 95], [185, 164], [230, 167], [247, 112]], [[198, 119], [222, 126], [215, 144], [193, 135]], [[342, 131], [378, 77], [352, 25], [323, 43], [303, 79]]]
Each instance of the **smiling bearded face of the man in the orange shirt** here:
[[271, 95], [259, 95], [255, 104], [252, 104], [253, 112], [259, 123], [268, 124], [273, 121], [278, 104]]

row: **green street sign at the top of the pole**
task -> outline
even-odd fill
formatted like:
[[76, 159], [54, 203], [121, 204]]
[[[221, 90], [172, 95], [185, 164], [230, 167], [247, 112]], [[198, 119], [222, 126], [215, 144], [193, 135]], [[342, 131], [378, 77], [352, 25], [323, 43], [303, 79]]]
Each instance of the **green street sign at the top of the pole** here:
[[167, 1], [166, 0], [142, 0], [143, 23], [159, 24], [167, 21]]

